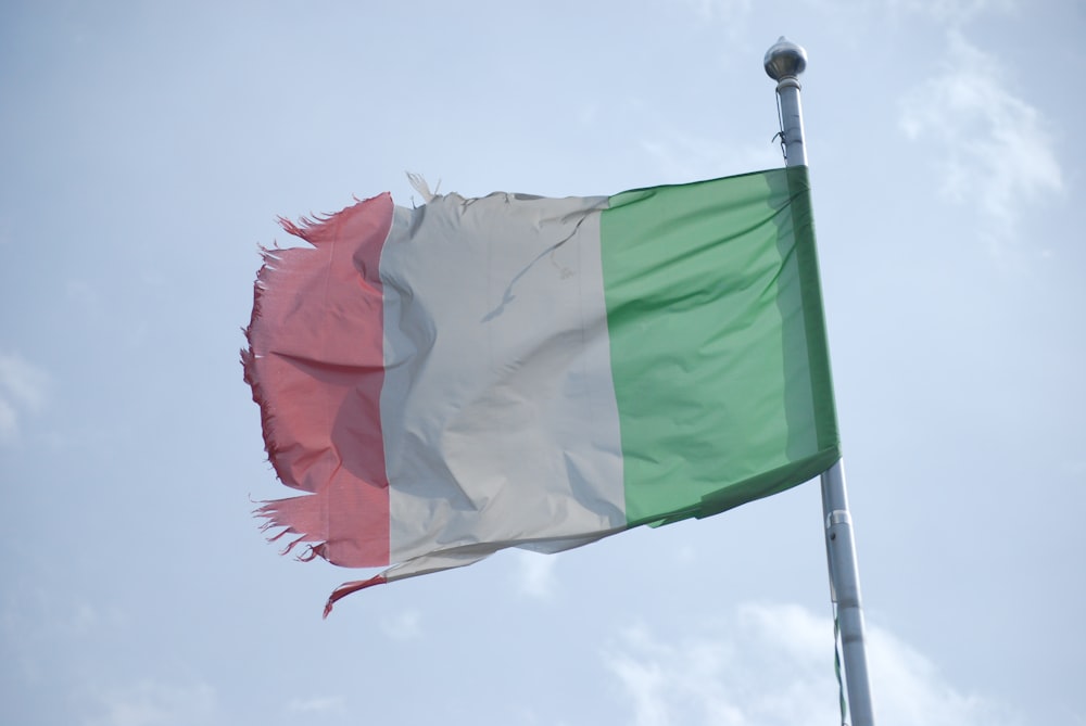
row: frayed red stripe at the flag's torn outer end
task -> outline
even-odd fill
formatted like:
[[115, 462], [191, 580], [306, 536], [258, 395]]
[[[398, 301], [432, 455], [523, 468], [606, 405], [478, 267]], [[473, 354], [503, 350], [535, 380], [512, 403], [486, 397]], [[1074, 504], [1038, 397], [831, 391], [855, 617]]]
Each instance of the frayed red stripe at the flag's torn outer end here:
[[283, 229], [313, 245], [265, 250], [242, 351], [268, 458], [283, 484], [312, 494], [267, 501], [304, 559], [389, 563], [389, 483], [381, 436], [384, 383], [381, 250], [389, 194]]

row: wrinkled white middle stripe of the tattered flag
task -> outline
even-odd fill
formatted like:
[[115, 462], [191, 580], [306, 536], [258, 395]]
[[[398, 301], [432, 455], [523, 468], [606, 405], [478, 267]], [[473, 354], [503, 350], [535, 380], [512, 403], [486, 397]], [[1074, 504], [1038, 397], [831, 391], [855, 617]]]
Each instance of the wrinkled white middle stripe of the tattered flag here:
[[559, 550], [624, 526], [606, 202], [396, 208], [381, 256], [392, 562], [481, 542]]

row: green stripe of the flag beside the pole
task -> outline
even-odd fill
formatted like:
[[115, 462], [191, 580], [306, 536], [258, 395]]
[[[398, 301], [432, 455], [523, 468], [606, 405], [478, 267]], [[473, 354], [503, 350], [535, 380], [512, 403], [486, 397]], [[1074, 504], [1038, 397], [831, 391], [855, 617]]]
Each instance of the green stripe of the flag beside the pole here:
[[806, 168], [624, 192], [601, 250], [631, 525], [836, 461]]

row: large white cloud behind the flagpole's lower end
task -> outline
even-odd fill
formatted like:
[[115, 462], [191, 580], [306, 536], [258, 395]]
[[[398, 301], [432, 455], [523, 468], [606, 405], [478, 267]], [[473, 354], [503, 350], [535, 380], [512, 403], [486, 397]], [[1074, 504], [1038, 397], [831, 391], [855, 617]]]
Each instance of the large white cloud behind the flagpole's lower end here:
[[[668, 640], [631, 628], [606, 655], [636, 726], [815, 726], [839, 718], [829, 616], [748, 603], [698, 629]], [[947, 685], [930, 661], [884, 631], [868, 636], [881, 726], [1021, 723], [994, 701]]]

